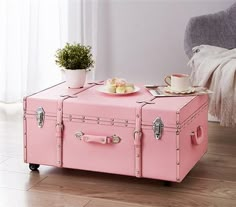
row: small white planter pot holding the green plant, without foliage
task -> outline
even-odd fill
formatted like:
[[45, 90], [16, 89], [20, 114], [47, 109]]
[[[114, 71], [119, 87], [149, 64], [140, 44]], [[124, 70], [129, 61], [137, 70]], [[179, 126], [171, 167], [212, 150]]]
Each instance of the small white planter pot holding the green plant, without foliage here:
[[66, 84], [68, 88], [82, 88], [86, 80], [86, 70], [65, 70]]

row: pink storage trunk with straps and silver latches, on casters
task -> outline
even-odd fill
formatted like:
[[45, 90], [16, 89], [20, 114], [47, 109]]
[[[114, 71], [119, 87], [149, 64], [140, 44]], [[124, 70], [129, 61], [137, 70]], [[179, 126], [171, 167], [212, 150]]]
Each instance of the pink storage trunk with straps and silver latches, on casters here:
[[208, 96], [58, 84], [24, 99], [24, 161], [181, 182], [207, 151]]

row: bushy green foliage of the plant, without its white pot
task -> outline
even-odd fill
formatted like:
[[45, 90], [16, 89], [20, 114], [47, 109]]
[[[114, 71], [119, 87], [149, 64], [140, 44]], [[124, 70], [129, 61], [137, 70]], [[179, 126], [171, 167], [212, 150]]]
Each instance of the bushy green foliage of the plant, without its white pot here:
[[80, 70], [93, 67], [94, 60], [90, 46], [66, 43], [56, 51], [56, 64], [65, 69]]

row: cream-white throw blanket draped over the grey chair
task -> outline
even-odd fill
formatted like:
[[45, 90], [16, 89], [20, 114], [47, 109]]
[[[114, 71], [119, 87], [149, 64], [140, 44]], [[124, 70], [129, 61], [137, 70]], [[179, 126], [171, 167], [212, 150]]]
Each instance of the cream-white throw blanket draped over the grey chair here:
[[200, 45], [189, 61], [193, 85], [204, 86], [214, 93], [210, 96], [209, 113], [222, 126], [236, 126], [236, 48]]

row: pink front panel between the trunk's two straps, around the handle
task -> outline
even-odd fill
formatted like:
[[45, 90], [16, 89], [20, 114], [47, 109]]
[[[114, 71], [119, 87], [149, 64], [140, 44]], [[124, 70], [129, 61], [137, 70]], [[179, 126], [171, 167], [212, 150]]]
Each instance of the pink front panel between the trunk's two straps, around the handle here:
[[[64, 126], [64, 167], [134, 175], [133, 127], [70, 121], [65, 121]], [[121, 141], [118, 144], [88, 143], [75, 136], [78, 132], [90, 136], [116, 135]]]

